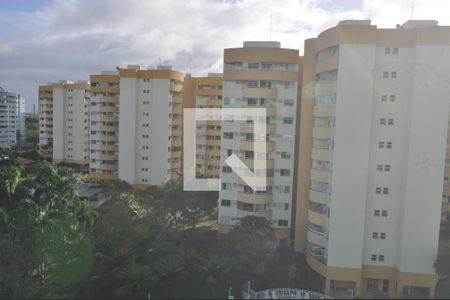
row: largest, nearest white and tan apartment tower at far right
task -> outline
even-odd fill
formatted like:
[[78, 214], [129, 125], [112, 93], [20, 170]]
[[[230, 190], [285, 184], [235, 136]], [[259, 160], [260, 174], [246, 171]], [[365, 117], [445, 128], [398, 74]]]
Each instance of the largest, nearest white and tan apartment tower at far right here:
[[434, 294], [449, 34], [342, 21], [306, 41], [295, 248], [326, 293]]

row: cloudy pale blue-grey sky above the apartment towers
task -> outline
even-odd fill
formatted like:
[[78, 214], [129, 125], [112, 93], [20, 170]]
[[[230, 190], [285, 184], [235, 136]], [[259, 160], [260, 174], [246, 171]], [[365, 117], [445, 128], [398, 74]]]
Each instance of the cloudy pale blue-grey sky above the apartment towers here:
[[[205, 76], [243, 41], [271, 38], [303, 53], [305, 39], [340, 20], [394, 28], [411, 8], [412, 0], [0, 0], [0, 86], [32, 111], [48, 82], [129, 64]], [[450, 25], [449, 11], [450, 0], [415, 0], [413, 18]]]

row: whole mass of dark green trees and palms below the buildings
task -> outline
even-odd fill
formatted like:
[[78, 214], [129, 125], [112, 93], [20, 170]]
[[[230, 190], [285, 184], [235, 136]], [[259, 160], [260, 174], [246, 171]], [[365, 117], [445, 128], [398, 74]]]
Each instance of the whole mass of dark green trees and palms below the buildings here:
[[28, 174], [0, 168], [0, 298], [223, 298], [247, 280], [295, 287], [305, 277], [264, 218], [218, 235], [208, 225], [217, 193], [184, 192], [178, 181], [141, 192], [117, 183], [95, 209], [74, 180], [46, 162]]

